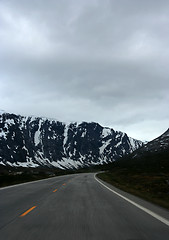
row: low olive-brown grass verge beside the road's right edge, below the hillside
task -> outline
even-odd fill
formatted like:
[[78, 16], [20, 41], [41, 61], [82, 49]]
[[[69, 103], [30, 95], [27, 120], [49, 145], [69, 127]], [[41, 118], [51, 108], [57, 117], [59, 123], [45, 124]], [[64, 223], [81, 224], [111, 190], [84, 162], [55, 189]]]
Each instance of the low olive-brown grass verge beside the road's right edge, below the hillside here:
[[97, 177], [113, 186], [169, 209], [169, 174], [114, 168]]

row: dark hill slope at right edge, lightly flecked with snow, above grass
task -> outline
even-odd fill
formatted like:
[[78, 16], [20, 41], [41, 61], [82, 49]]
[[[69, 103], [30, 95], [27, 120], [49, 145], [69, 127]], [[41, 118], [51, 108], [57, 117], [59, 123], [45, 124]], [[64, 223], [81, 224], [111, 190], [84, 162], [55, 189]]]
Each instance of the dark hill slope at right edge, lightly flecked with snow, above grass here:
[[156, 139], [121, 158], [119, 167], [149, 172], [169, 172], [169, 129]]

